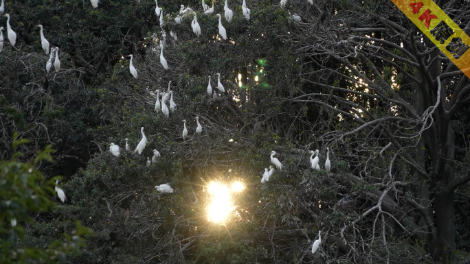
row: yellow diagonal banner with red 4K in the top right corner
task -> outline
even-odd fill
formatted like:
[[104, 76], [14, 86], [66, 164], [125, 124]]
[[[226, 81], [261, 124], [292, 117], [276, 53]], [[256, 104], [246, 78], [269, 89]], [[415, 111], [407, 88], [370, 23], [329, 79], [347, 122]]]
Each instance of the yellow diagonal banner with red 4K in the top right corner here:
[[470, 38], [434, 1], [392, 2], [470, 78]]

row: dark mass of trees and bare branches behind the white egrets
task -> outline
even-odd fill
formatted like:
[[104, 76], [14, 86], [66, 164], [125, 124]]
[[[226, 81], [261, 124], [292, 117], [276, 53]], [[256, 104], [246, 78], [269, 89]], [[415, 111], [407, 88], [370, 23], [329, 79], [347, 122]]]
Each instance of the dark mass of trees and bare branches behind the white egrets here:
[[[63, 176], [67, 196], [25, 208], [17, 246], [45, 248], [80, 221], [92, 234], [64, 262], [469, 261], [469, 79], [391, 1], [281, 2], [246, 1], [247, 19], [229, 0], [229, 22], [225, 1], [212, 14], [158, 1], [161, 18], [150, 0], [5, 1], [17, 38], [3, 32], [0, 156], [27, 163], [52, 145], [34, 167]], [[470, 33], [467, 1], [436, 3]], [[59, 70], [45, 69], [38, 24]], [[273, 150], [283, 168], [262, 183]], [[244, 185], [224, 189], [217, 223], [214, 181]]]

